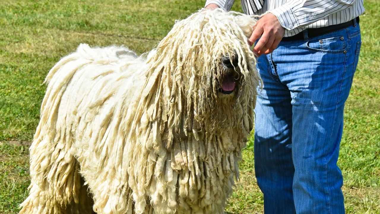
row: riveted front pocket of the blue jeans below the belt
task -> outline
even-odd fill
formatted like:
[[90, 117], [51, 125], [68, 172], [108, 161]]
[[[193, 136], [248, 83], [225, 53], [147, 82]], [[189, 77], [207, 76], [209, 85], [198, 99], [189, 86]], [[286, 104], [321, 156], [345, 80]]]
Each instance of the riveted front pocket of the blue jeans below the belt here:
[[314, 52], [340, 54], [347, 51], [346, 39], [344, 35], [329, 38], [310, 38], [306, 43], [306, 48]]

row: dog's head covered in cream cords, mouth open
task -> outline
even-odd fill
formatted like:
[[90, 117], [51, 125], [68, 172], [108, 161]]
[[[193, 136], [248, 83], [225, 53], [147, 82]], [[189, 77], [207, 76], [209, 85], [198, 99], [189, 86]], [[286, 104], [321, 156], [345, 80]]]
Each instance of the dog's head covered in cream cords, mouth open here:
[[157, 45], [149, 75], [161, 80], [167, 109], [185, 115], [178, 123], [231, 128], [253, 108], [259, 77], [247, 39], [255, 23], [241, 13], [203, 9], [176, 21]]

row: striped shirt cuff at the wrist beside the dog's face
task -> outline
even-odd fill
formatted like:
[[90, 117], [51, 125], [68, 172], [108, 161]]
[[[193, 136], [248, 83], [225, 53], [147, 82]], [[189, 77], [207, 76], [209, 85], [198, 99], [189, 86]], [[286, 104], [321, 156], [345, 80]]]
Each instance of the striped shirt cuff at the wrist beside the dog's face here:
[[282, 5], [269, 11], [269, 13], [275, 15], [279, 20], [281, 26], [287, 30], [293, 30], [299, 26], [297, 19], [293, 14], [293, 11], [291, 11], [290, 6], [288, 5]]

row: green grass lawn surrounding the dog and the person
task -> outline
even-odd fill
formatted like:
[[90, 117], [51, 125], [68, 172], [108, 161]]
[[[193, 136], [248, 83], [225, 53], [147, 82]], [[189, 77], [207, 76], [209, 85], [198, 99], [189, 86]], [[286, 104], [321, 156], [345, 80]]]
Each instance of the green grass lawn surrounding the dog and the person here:
[[[49, 69], [79, 43], [151, 50], [203, 0], [0, 2], [0, 214], [13, 214], [28, 194], [28, 143], [38, 124]], [[363, 45], [350, 97], [339, 166], [347, 213], [380, 213], [380, 2], [365, 1]], [[236, 1], [234, 10], [240, 10]], [[231, 214], [263, 212], [253, 169], [252, 140], [240, 164]]]

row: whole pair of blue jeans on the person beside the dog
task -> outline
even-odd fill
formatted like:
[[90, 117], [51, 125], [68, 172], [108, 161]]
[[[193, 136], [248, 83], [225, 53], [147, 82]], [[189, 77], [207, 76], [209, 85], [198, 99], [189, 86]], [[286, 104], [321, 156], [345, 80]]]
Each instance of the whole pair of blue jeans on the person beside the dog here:
[[265, 214], [344, 214], [337, 160], [360, 28], [303, 34], [258, 57], [256, 178]]

